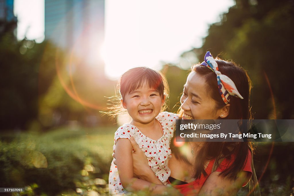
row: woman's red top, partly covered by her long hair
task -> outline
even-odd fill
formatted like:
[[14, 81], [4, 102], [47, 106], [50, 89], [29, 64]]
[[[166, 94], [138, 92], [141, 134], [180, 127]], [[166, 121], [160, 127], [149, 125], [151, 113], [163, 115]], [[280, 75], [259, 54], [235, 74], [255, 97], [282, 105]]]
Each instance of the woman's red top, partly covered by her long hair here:
[[[235, 160], [234, 155], [232, 156], [232, 159], [230, 159], [230, 160], [224, 159], [220, 163], [220, 166], [216, 169], [216, 172], [223, 172], [225, 169], [230, 167], [230, 165], [232, 165], [234, 160]], [[197, 195], [199, 193], [201, 187], [203, 186], [204, 182], [206, 181], [208, 176], [211, 174], [211, 170], [212, 170], [214, 161], [215, 161], [215, 159], [211, 160], [205, 169], [207, 176], [204, 176], [203, 174], [201, 174], [201, 177], [199, 179], [194, 180], [192, 182], [189, 182], [187, 184], [183, 184], [183, 185], [173, 185], [173, 184], [171, 184], [171, 182], [169, 180], [168, 180], [168, 183], [170, 183], [173, 188], [178, 189], [181, 192], [181, 194], [183, 194], [183, 195], [186, 195], [186, 196]], [[243, 171], [251, 172], [251, 174], [252, 174], [251, 162], [252, 162], [252, 155], [251, 155], [251, 151], [248, 150], [248, 157], [247, 157], [247, 160], [245, 160]], [[246, 184], [247, 184], [247, 182], [245, 182], [242, 186], [245, 186]]]

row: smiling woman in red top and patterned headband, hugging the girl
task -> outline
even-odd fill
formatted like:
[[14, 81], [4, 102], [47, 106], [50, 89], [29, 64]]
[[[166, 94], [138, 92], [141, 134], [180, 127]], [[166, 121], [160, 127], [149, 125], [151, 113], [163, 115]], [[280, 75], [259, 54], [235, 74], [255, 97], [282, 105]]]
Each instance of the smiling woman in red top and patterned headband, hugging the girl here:
[[[191, 68], [184, 85], [181, 117], [251, 119], [251, 83], [246, 71], [233, 62], [213, 59], [210, 52], [204, 60]], [[131, 142], [135, 151], [134, 173], [157, 184], [153, 187], [155, 191], [162, 190], [162, 183], [148, 166], [144, 154], [134, 140]], [[183, 195], [236, 195], [254, 171], [247, 142], [187, 142], [181, 148], [174, 145], [171, 150], [169, 182]]]

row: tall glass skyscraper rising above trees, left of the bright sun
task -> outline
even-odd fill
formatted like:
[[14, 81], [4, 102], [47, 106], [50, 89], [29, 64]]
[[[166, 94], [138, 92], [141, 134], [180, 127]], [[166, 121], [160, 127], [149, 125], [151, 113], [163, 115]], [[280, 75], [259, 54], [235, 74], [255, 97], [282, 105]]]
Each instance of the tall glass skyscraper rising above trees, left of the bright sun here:
[[45, 40], [104, 73], [104, 0], [45, 0]]

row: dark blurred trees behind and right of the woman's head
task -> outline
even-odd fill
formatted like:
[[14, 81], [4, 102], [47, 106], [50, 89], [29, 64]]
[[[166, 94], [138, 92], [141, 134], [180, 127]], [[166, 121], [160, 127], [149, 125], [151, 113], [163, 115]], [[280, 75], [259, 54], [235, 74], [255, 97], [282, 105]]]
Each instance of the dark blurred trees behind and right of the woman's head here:
[[293, 119], [293, 24], [293, 0], [236, 0], [221, 21], [210, 26], [203, 46], [188, 52], [202, 61], [211, 51], [245, 68], [253, 83], [254, 118]]

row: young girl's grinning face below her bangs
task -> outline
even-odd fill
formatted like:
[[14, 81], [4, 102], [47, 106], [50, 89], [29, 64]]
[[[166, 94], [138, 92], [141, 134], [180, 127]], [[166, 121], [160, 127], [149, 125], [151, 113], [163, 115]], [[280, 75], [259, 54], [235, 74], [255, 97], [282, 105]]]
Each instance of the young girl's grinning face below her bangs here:
[[125, 95], [123, 108], [132, 117], [132, 124], [148, 124], [155, 120], [164, 104], [164, 98], [155, 89], [141, 87]]

